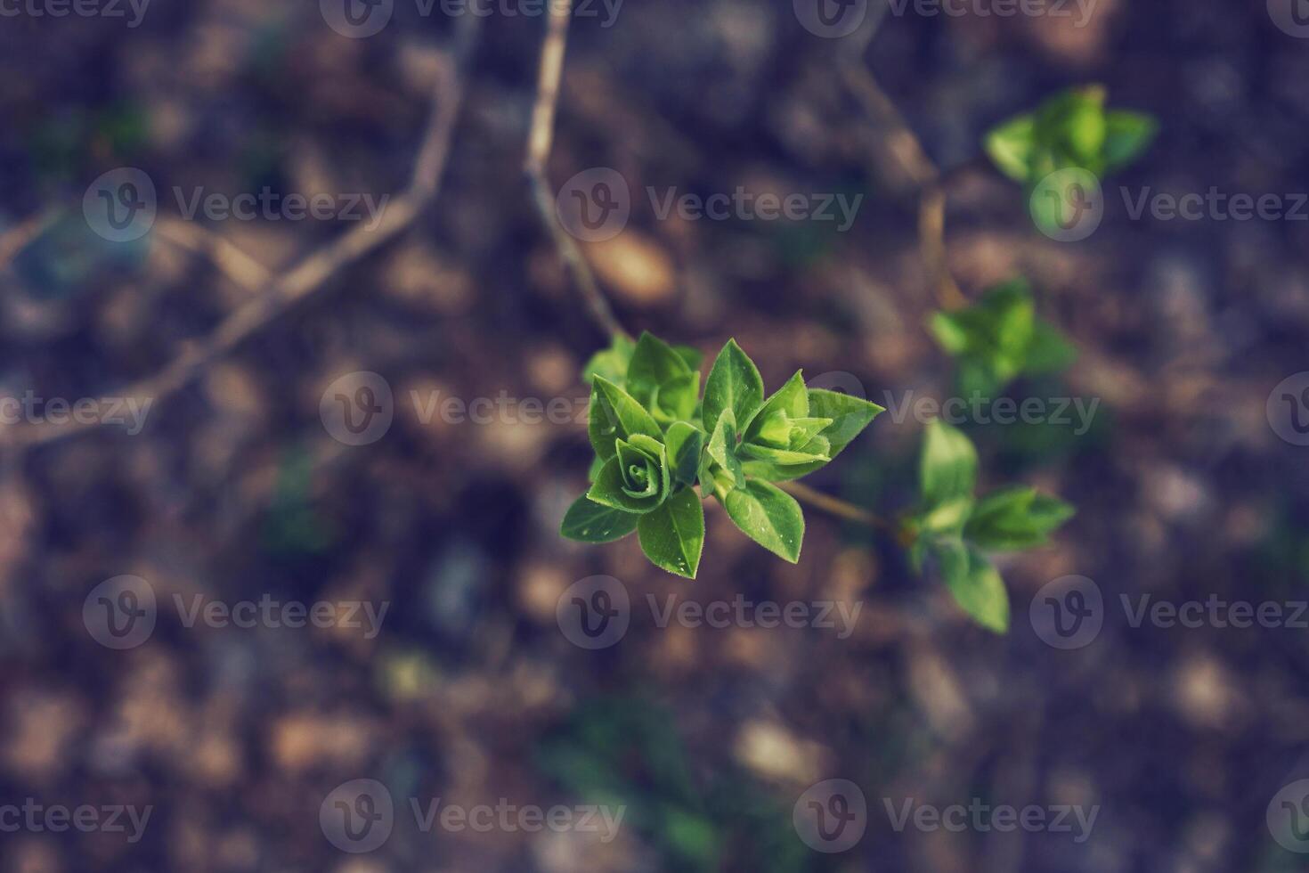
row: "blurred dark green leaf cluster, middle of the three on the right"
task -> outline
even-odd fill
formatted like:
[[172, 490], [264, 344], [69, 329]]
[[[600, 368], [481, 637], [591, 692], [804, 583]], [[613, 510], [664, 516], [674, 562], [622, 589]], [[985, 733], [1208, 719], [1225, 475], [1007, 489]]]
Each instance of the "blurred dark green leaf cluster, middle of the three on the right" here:
[[995, 397], [1020, 376], [1058, 373], [1076, 357], [1063, 332], [1037, 318], [1025, 279], [987, 289], [966, 309], [933, 313], [928, 329], [954, 357], [959, 390], [967, 395]]

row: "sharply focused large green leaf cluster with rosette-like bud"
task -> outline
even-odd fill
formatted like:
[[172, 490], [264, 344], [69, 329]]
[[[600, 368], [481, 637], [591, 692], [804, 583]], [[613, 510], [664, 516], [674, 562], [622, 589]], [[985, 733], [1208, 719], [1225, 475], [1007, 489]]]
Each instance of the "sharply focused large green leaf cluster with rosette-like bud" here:
[[736, 340], [719, 352], [703, 397], [698, 366], [694, 349], [648, 332], [635, 343], [617, 338], [586, 364], [596, 463], [563, 535], [602, 543], [635, 530], [656, 567], [695, 579], [702, 500], [713, 496], [747, 537], [797, 561], [804, 514], [774, 483], [826, 466], [882, 407], [809, 389], [798, 372], [764, 397], [759, 369]]

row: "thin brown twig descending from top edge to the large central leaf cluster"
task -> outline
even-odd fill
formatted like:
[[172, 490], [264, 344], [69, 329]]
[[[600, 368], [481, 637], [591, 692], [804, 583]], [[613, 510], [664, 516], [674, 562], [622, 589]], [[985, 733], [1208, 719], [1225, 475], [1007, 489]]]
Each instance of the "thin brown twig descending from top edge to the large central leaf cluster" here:
[[531, 185], [531, 199], [541, 221], [550, 232], [560, 259], [568, 266], [581, 292], [586, 312], [596, 325], [611, 336], [627, 336], [627, 331], [614, 315], [609, 300], [600, 291], [590, 266], [577, 242], [559, 224], [555, 216], [555, 198], [546, 178], [546, 162], [555, 135], [555, 107], [559, 103], [559, 82], [564, 67], [564, 48], [568, 41], [568, 20], [572, 0], [550, 4], [550, 24], [541, 50], [541, 73], [537, 79], [537, 102], [531, 110], [531, 131], [528, 135], [528, 156], [522, 169]]

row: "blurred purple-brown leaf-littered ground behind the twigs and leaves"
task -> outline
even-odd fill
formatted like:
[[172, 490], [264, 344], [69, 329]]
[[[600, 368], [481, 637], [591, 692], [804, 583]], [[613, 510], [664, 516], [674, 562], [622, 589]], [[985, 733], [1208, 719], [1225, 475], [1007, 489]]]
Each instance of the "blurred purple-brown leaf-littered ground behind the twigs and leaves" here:
[[[1309, 777], [1309, 630], [1132, 627], [1121, 606], [1309, 598], [1306, 449], [1272, 415], [1306, 366], [1309, 208], [1127, 208], [1216, 186], [1295, 212], [1309, 9], [869, 3], [827, 8], [863, 16], [843, 38], [816, 33], [798, 0], [579, 8], [550, 185], [607, 168], [630, 186], [626, 226], [579, 243], [627, 330], [709, 356], [734, 336], [770, 389], [804, 368], [884, 406], [949, 398], [953, 364], [924, 330], [937, 304], [915, 187], [842, 75], [851, 55], [870, 69], [948, 174], [965, 296], [1026, 276], [1079, 349], [1008, 395], [1100, 402], [1086, 428], [965, 424], [983, 491], [1033, 484], [1079, 510], [1054, 544], [1001, 560], [1008, 636], [886, 537], [813, 508], [791, 565], [708, 507], [694, 582], [634, 538], [558, 535], [592, 454], [580, 369], [607, 338], [522, 171], [539, 5], [496, 0], [474, 30], [463, 7], [418, 0], [0, 3], [0, 397], [10, 412], [33, 398], [0, 429], [0, 806], [89, 806], [105, 825], [9, 827], [0, 811], [4, 869], [1309, 869], [1292, 851], [1309, 842], [1272, 822], [1279, 792]], [[386, 21], [364, 35], [374, 13]], [[980, 141], [1086, 82], [1161, 132], [1106, 182], [1100, 228], [1059, 242]], [[440, 141], [453, 110], [441, 190], [399, 221], [428, 126]], [[656, 208], [669, 191], [737, 190], [861, 200], [848, 228]], [[267, 209], [221, 208], [264, 191]], [[291, 217], [291, 195], [326, 195], [321, 215]], [[97, 203], [153, 221], [106, 225]], [[387, 238], [292, 305], [249, 308], [373, 219]], [[254, 321], [211, 347], [234, 312]], [[179, 359], [194, 366], [174, 380]], [[378, 418], [342, 418], [339, 395]], [[459, 415], [450, 398], [486, 402]], [[81, 399], [103, 427], [31, 442]], [[920, 437], [912, 412], [888, 412], [806, 482], [894, 514], [915, 499]], [[623, 637], [592, 650], [556, 607], [597, 575], [631, 610]], [[1105, 615], [1063, 650], [1029, 603], [1069, 575], [1094, 581]], [[861, 610], [844, 637], [661, 627], [648, 594], [660, 609], [742, 596]], [[251, 602], [335, 618], [221, 619]], [[394, 805], [368, 852], [329, 822], [384, 814], [376, 792], [335, 805], [359, 779]], [[842, 852], [797, 823], [830, 779], [867, 808]], [[437, 798], [624, 811], [607, 834], [424, 828], [412, 808]], [[906, 801], [1097, 813], [1089, 834], [1076, 817], [1073, 832], [897, 827]], [[115, 831], [115, 806], [151, 811]]]

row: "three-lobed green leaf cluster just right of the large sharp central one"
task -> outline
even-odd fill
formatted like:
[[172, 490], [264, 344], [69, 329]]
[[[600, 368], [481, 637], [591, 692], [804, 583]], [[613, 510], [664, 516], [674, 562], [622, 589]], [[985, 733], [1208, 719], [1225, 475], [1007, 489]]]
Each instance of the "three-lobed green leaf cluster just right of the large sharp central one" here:
[[914, 569], [935, 563], [956, 602], [983, 627], [1009, 630], [1009, 596], [986, 555], [1034, 548], [1072, 518], [1067, 503], [1011, 487], [977, 499], [978, 454], [973, 442], [942, 421], [931, 421], [919, 466], [922, 499], [907, 520], [916, 535]]

